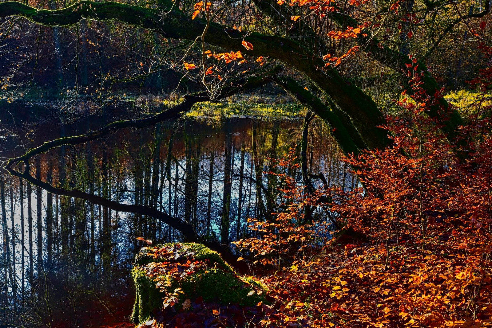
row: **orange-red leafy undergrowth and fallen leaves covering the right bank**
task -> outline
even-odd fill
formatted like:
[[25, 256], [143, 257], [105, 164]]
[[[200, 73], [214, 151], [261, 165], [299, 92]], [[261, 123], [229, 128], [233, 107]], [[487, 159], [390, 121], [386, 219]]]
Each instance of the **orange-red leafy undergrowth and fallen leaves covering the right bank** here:
[[[288, 174], [300, 169], [294, 149], [272, 160], [277, 213], [249, 219], [251, 238], [236, 242], [239, 260], [266, 268], [255, 277], [268, 296], [247, 308], [198, 302], [207, 325], [492, 326], [490, 106], [477, 103], [449, 142], [425, 114], [438, 94], [429, 96], [409, 69], [412, 95], [396, 101], [407, 115], [387, 118], [393, 147], [343, 159], [364, 188], [308, 193]], [[488, 68], [470, 83], [485, 93], [491, 78]], [[205, 323], [192, 309], [173, 313], [171, 326], [147, 324]]]

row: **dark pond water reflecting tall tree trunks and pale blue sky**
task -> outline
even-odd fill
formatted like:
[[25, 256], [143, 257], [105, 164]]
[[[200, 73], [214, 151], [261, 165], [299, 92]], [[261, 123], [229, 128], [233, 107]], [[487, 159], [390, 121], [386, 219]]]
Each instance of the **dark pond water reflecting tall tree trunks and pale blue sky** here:
[[[92, 119], [10, 129], [0, 156], [19, 156], [43, 141], [100, 125]], [[183, 218], [199, 236], [228, 244], [249, 236], [247, 218], [275, 211], [276, 179], [266, 173], [275, 170], [270, 159], [291, 147], [299, 153], [302, 127], [299, 119], [183, 119], [52, 149], [32, 160], [31, 172], [56, 186]], [[330, 186], [354, 189], [359, 182], [339, 161], [327, 129], [317, 121], [309, 127], [308, 170], [322, 172]], [[300, 170], [289, 174], [303, 183]], [[184, 240], [150, 215], [52, 194], [6, 173], [0, 187], [0, 325], [125, 322], [134, 298], [129, 272], [144, 246], [136, 238], [154, 244]]]

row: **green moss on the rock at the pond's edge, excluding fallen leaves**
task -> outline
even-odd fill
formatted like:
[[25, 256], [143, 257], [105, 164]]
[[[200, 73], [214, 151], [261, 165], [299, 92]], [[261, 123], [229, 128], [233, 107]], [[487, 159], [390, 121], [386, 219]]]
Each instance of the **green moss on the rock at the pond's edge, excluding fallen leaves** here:
[[[174, 245], [165, 244], [158, 247]], [[204, 301], [216, 301], [221, 304], [254, 305], [259, 301], [265, 301], [265, 286], [252, 277], [238, 276], [217, 252], [195, 243], [181, 245], [179, 251], [192, 251], [194, 260], [204, 262], [208, 260], [210, 267], [187, 275], [181, 281], [171, 281], [171, 286], [167, 289], [169, 292], [174, 292], [176, 288], [181, 288], [183, 291], [179, 297], [178, 308], [184, 300], [194, 301], [198, 297], [202, 297]], [[153, 279], [149, 278], [146, 271], [141, 268], [142, 265], [150, 262], [161, 261], [161, 259], [154, 259], [153, 256], [147, 255], [149, 250], [146, 249], [137, 254], [136, 262], [140, 267], [132, 270], [137, 293], [131, 318], [134, 323], [142, 323], [151, 318], [154, 312], [162, 307], [163, 297], [166, 294], [159, 293]], [[251, 291], [254, 292], [251, 293]], [[257, 291], [261, 291], [261, 295], [258, 295]], [[250, 293], [251, 295], [248, 295]]]

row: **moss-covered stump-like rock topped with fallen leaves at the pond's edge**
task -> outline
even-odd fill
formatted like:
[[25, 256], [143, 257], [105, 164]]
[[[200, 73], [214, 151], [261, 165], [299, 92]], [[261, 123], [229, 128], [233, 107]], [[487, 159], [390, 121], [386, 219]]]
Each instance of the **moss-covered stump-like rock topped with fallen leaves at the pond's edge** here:
[[200, 297], [224, 305], [254, 305], [264, 301], [266, 291], [252, 277], [238, 276], [217, 252], [195, 243], [146, 247], [136, 256], [132, 276], [137, 294], [134, 323], [154, 318], [170, 298], [178, 310], [184, 300]]

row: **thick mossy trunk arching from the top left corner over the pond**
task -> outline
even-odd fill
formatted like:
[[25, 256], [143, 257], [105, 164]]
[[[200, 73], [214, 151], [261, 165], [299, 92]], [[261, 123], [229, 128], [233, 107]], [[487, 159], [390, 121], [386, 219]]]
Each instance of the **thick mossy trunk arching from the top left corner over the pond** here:
[[[22, 16], [44, 26], [67, 26], [82, 19], [118, 20], [147, 28], [168, 38], [195, 40], [207, 25], [206, 20], [190, 17], [173, 7], [169, 0], [158, 8], [145, 8], [119, 2], [80, 0], [67, 8], [37, 10], [17, 1], [0, 3], [0, 17]], [[360, 88], [347, 81], [334, 68], [324, 69], [326, 62], [294, 40], [257, 32], [239, 31], [232, 27], [210, 23], [207, 32], [210, 44], [230, 50], [245, 50], [247, 41], [253, 49], [247, 55], [280, 60], [312, 80], [338, 107], [346, 113], [369, 148], [383, 149], [391, 145], [385, 129], [385, 118], [374, 101]]]

